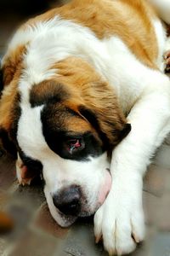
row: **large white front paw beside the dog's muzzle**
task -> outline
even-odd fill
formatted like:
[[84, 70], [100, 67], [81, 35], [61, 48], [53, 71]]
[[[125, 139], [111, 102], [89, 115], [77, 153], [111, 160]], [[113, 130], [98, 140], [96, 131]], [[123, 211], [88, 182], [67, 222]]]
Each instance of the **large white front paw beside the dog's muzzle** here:
[[94, 216], [96, 242], [102, 238], [110, 255], [131, 253], [144, 239], [144, 213], [136, 198], [127, 195], [107, 197]]

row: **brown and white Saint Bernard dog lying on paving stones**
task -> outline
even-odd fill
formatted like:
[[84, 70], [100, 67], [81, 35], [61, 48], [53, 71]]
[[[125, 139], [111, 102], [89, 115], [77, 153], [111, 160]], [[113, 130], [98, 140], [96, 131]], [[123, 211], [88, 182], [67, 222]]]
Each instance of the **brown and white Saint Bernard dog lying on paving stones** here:
[[94, 214], [113, 254], [144, 240], [143, 177], [170, 131], [169, 0], [73, 0], [26, 22], [2, 61], [3, 147], [42, 172], [62, 227]]

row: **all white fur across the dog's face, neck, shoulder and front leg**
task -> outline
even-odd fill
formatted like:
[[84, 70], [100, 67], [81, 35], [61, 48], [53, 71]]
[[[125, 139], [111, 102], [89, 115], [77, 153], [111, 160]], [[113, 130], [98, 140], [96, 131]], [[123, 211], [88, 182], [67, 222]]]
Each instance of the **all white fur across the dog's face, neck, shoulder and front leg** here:
[[[152, 2], [161, 6], [161, 16], [168, 21], [166, 13], [170, 4], [166, 0]], [[162, 14], [164, 9], [166, 12]], [[160, 21], [152, 21], [159, 48], [157, 65], [161, 68], [165, 32]], [[36, 38], [31, 30], [35, 32]], [[114, 36], [100, 41], [88, 28], [59, 20], [59, 17], [38, 23], [38, 26], [26, 31], [26, 37], [24, 33], [20, 34], [20, 41], [22, 37], [23, 42], [31, 42], [25, 59], [26, 71], [20, 79], [22, 114], [17, 139], [20, 148], [28, 156], [42, 161], [45, 194], [50, 211], [59, 224], [64, 225], [59, 212], [55, 211], [51, 197], [53, 193], [65, 183], [79, 183], [86, 190], [88, 207], [93, 212], [97, 207], [96, 197], [108, 162], [106, 156], [101, 155], [89, 162], [77, 164], [77, 161], [62, 160], [54, 154], [42, 135], [40, 113], [43, 106], [31, 108], [29, 104], [31, 86], [56, 75], [54, 70], [48, 72], [48, 67], [55, 61], [76, 55], [89, 61], [109, 81], [116, 90], [124, 113], [130, 111], [127, 119], [132, 124], [132, 131], [113, 151], [113, 186], [105, 203], [95, 213], [94, 232], [97, 240], [103, 236], [105, 249], [109, 253], [132, 252], [135, 241], [144, 238], [142, 177], [150, 157], [170, 131], [169, 79], [139, 62], [121, 38]], [[16, 41], [17, 38], [11, 47], [18, 44]], [[26, 127], [29, 127], [27, 131]]]

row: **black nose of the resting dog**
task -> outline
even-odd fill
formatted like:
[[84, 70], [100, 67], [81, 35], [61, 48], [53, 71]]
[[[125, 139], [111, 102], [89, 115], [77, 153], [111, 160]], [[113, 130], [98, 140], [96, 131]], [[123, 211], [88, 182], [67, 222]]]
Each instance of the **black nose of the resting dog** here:
[[77, 186], [71, 186], [53, 196], [54, 206], [65, 215], [77, 216], [81, 208], [80, 198], [80, 189]]

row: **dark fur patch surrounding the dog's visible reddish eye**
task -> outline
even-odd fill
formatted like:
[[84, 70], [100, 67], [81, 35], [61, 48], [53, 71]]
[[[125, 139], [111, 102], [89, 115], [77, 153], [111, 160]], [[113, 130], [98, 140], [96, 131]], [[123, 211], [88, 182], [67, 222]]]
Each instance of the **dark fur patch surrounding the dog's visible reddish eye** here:
[[[58, 104], [57, 104], [58, 105]], [[104, 152], [101, 143], [94, 137], [92, 132], [69, 133], [66, 131], [65, 119], [71, 118], [72, 115], [79, 116], [69, 108], [58, 105], [55, 108], [47, 106], [42, 110], [42, 132], [45, 137], [48, 147], [51, 148], [56, 154], [64, 159], [71, 160], [88, 160], [89, 156], [97, 157]], [[80, 139], [85, 143], [85, 148], [77, 150], [75, 153], [70, 154], [66, 149], [66, 142], [69, 139]]]

